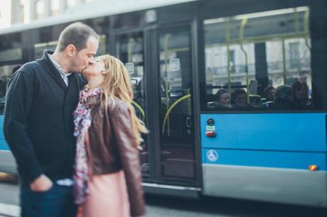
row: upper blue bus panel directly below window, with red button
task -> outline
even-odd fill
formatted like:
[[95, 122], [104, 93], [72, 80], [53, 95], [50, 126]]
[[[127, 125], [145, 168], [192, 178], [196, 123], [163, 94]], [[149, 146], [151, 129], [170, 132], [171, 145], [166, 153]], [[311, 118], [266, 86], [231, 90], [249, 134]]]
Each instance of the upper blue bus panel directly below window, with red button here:
[[[203, 148], [326, 152], [326, 113], [201, 114]], [[205, 136], [215, 121], [215, 138]]]

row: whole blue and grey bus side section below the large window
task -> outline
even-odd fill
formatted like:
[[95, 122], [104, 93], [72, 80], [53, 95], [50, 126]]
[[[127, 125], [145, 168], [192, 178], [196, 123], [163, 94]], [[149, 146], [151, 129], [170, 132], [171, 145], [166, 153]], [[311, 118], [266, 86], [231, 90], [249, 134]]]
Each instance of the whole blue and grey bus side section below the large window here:
[[327, 206], [325, 117], [202, 114], [203, 194]]

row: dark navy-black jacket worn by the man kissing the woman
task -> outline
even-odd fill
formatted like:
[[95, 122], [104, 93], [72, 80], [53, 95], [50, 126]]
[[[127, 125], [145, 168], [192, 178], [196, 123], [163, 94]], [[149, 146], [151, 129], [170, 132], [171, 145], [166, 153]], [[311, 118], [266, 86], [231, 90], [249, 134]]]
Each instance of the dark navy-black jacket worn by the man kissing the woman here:
[[73, 111], [84, 79], [70, 74], [68, 87], [45, 50], [11, 77], [6, 93], [4, 136], [23, 184], [41, 174], [71, 178], [75, 158]]

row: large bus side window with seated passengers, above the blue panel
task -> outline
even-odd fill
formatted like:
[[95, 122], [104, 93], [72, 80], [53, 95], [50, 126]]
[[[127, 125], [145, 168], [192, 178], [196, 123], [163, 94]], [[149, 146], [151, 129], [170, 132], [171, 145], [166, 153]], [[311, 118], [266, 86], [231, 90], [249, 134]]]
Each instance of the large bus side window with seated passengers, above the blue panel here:
[[[215, 18], [203, 24], [201, 109], [322, 109], [318, 106], [322, 99], [315, 99], [312, 91], [308, 7]], [[230, 106], [221, 106], [222, 90], [230, 94]]]

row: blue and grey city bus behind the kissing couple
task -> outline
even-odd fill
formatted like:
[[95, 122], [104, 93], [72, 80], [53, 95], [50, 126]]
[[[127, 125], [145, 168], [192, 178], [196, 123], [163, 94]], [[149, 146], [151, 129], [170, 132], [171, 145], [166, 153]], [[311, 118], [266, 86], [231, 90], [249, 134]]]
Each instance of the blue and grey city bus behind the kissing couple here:
[[[82, 21], [101, 35], [97, 55], [118, 57], [132, 77], [150, 131], [140, 151], [147, 193], [326, 207], [326, 6], [130, 1], [11, 26], [0, 30], [1, 108], [14, 67]], [[15, 172], [0, 139], [0, 170]]]

